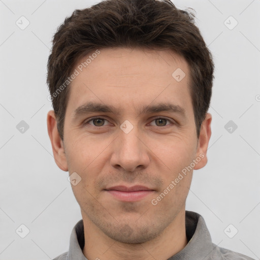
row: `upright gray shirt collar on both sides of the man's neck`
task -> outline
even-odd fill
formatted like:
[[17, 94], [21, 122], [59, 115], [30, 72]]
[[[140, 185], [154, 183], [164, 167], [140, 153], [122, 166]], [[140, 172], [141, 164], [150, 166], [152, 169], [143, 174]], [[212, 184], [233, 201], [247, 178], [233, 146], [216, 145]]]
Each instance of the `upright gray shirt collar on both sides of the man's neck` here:
[[[203, 217], [196, 212], [186, 210], [185, 227], [188, 244], [168, 260], [206, 259], [214, 248]], [[81, 219], [71, 233], [69, 260], [88, 260], [82, 253], [84, 244], [84, 226]]]

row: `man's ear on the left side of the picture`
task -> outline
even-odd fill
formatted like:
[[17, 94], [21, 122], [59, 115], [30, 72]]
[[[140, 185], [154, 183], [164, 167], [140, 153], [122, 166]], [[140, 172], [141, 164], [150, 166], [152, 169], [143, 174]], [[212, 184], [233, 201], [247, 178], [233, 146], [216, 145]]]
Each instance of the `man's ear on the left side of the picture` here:
[[47, 114], [47, 128], [51, 140], [55, 163], [62, 171], [68, 172], [68, 164], [65, 155], [64, 144], [58, 133], [54, 110], [50, 110]]

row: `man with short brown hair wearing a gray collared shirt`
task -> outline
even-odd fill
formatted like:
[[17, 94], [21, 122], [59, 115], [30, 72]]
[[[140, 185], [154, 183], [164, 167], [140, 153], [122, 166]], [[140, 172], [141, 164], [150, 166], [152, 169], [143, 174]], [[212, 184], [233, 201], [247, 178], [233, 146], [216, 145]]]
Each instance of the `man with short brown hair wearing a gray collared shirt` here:
[[47, 124], [82, 220], [55, 259], [252, 259], [213, 244], [185, 211], [207, 164], [213, 71], [193, 15], [170, 1], [109, 0], [66, 18]]

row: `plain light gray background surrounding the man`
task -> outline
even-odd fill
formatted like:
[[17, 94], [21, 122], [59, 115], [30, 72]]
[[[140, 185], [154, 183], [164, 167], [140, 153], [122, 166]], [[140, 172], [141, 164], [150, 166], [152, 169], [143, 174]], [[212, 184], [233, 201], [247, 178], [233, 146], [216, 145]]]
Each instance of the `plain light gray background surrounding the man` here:
[[[52, 259], [68, 251], [81, 219], [47, 133], [46, 64], [57, 26], [98, 2], [0, 0], [0, 259]], [[193, 173], [186, 210], [204, 217], [213, 243], [259, 259], [260, 0], [173, 3], [196, 10], [216, 67], [208, 164]], [[30, 23], [23, 30], [21, 16]], [[24, 133], [16, 127], [22, 120]], [[232, 133], [224, 127], [230, 120], [238, 126]], [[25, 238], [16, 233], [21, 224]]]

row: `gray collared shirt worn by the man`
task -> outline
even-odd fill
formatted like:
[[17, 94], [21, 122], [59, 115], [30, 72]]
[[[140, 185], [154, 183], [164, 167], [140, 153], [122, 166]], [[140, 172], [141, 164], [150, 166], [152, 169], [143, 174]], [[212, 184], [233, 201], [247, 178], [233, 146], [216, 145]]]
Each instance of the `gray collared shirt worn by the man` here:
[[[196, 212], [186, 210], [185, 226], [188, 244], [168, 260], [255, 260], [213, 244], [203, 217]], [[69, 251], [53, 260], [88, 260], [82, 253], [84, 244], [84, 228], [81, 219], [72, 230]]]

